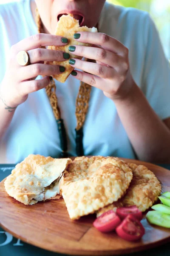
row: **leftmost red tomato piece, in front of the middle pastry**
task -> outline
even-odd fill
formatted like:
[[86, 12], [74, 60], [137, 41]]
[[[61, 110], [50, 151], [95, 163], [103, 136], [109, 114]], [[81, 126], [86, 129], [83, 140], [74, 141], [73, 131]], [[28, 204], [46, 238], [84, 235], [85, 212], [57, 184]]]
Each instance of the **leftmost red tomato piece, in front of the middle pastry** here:
[[113, 210], [109, 210], [96, 218], [93, 225], [101, 232], [110, 232], [115, 230], [120, 223], [119, 216]]

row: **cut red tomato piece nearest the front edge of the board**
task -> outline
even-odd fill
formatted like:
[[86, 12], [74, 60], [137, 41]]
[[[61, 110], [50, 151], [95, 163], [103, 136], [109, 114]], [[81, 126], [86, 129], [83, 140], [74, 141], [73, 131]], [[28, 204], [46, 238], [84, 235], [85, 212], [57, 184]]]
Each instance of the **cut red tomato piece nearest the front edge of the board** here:
[[122, 239], [136, 241], [144, 235], [144, 227], [137, 218], [129, 214], [116, 228], [116, 233]]

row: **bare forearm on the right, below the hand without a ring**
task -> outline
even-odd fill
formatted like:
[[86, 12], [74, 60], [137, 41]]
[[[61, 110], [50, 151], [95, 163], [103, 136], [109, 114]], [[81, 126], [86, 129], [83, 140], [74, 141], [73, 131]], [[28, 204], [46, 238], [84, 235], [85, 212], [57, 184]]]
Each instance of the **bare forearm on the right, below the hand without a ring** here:
[[119, 118], [140, 160], [170, 162], [170, 130], [134, 83], [123, 100], [114, 100]]

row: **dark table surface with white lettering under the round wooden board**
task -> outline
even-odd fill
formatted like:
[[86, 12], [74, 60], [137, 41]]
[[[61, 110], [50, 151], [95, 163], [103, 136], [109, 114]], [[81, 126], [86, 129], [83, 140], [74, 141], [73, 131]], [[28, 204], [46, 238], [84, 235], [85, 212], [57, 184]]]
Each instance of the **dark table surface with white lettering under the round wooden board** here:
[[[170, 165], [159, 165], [170, 170]], [[11, 174], [14, 164], [0, 164], [0, 181]], [[53, 253], [27, 244], [20, 239], [14, 238], [10, 233], [0, 227], [0, 256], [62, 256], [64, 254]], [[131, 256], [170, 256], [170, 244], [132, 253]], [[126, 256], [126, 255], [124, 255]]]

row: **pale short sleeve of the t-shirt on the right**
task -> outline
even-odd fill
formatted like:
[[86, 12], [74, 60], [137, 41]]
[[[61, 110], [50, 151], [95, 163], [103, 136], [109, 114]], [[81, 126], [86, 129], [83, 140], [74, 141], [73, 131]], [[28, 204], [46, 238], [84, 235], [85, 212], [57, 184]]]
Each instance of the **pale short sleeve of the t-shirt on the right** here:
[[145, 20], [145, 56], [142, 91], [161, 119], [170, 117], [170, 63], [149, 15]]

